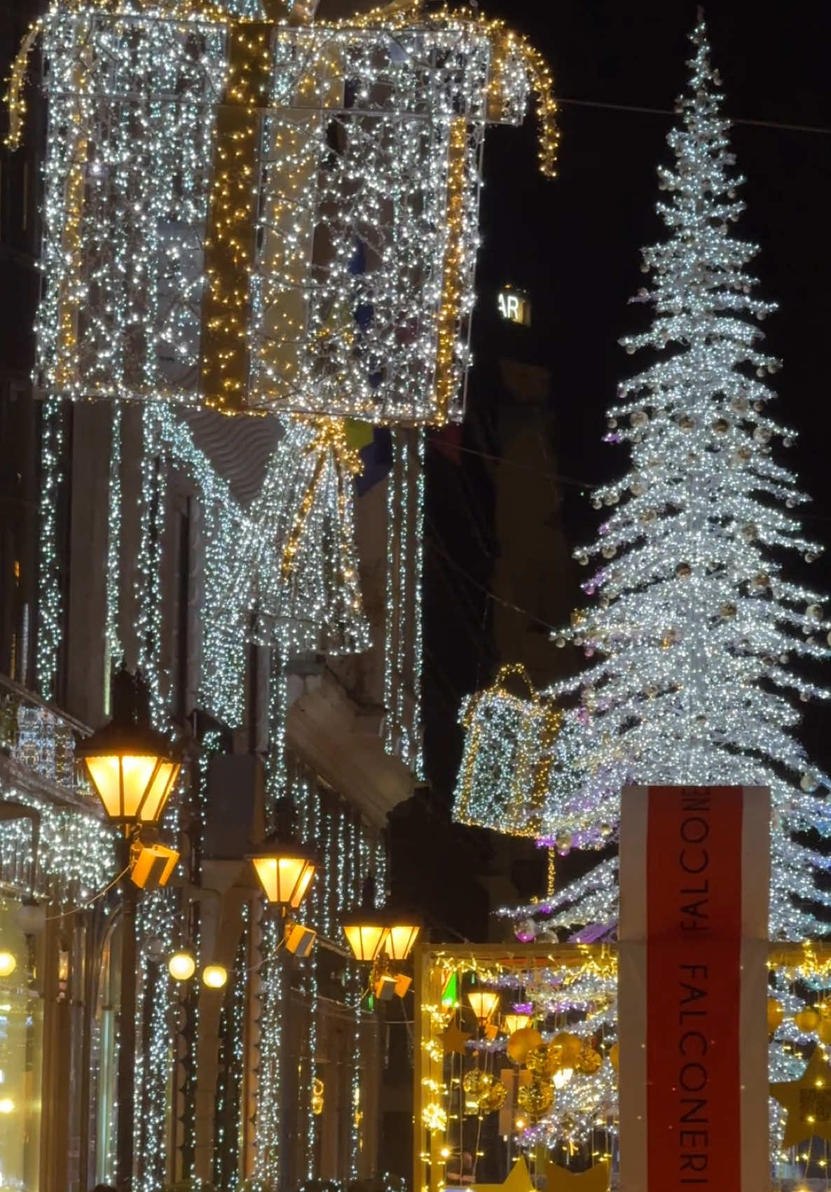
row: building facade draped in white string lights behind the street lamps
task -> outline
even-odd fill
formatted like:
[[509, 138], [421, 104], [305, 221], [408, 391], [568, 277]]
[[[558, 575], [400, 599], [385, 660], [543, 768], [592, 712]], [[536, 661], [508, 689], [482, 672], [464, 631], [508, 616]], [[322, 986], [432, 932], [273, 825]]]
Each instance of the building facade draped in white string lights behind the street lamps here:
[[[7, 60], [27, 15], [4, 12]], [[246, 550], [258, 496], [285, 479], [286, 428], [35, 395], [36, 85], [30, 122], [0, 173], [0, 1186], [116, 1181], [129, 924], [74, 749], [108, 718], [120, 664], [143, 672], [154, 722], [185, 750], [161, 825], [180, 862], [137, 907], [131, 1186], [368, 1180], [386, 1026], [340, 924], [368, 874], [383, 899], [386, 815], [421, 766], [423, 439], [373, 443], [355, 497], [366, 648], [343, 648], [354, 626], [310, 631], [299, 603], [254, 623]], [[286, 794], [321, 862], [303, 960], [244, 861]], [[185, 946], [197, 969], [175, 981], [167, 962]], [[211, 963], [229, 974], [221, 989], [200, 980]]]

